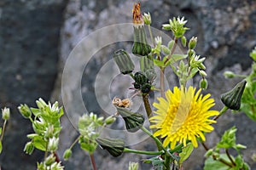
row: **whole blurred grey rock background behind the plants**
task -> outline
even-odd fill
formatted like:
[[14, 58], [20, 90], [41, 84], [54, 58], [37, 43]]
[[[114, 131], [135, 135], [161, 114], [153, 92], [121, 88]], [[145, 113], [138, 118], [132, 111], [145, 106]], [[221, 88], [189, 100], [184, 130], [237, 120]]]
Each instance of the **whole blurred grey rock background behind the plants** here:
[[[65, 62], [73, 48], [83, 37], [103, 26], [131, 22], [131, 8], [135, 1], [91, 1], [91, 0], [1, 0], [0, 1], [0, 107], [9, 106], [12, 111], [7, 133], [3, 139], [3, 153], [0, 165], [7, 169], [35, 169], [41, 152], [32, 156], [23, 153], [26, 133], [32, 128], [17, 112], [20, 103], [35, 105], [39, 97], [45, 100], [62, 101], [61, 88], [70, 91], [67, 105], [76, 105], [73, 99], [75, 89], [81, 86], [87, 111], [103, 113], [96, 101], [94, 84], [102, 65], [109, 61], [113, 49], [124, 45], [115, 44], [103, 48], [90, 59], [90, 65], [77, 65], [84, 71], [79, 82], [69, 77], [61, 80]], [[216, 1], [141, 1], [143, 12], [150, 12], [155, 28], [160, 28], [173, 16], [185, 16], [189, 20], [187, 37], [197, 36], [196, 51], [207, 56], [207, 74], [209, 89], [207, 92], [216, 99], [215, 109], [222, 107], [219, 95], [233, 87], [239, 79], [225, 80], [223, 72], [230, 70], [246, 74], [252, 60], [249, 52], [256, 45], [256, 2], [253, 0], [216, 0]], [[109, 32], [102, 38], [115, 36]], [[100, 43], [101, 38], [98, 40]], [[95, 42], [95, 41], [94, 41]], [[96, 44], [87, 44], [88, 48]], [[127, 44], [125, 48], [131, 47]], [[75, 73], [75, 72], [74, 72]], [[71, 75], [74, 74], [73, 72]], [[89, 77], [90, 76], [90, 77]], [[197, 78], [195, 77], [195, 83]], [[122, 89], [113, 87], [114, 93], [121, 94]], [[63, 95], [63, 93], [62, 93]], [[63, 96], [62, 96], [63, 97]], [[83, 108], [76, 107], [78, 114]], [[70, 115], [67, 115], [70, 116]], [[60, 155], [78, 135], [73, 124], [63, 117]], [[75, 118], [74, 118], [75, 119]], [[73, 121], [72, 119], [71, 121]], [[218, 141], [225, 129], [236, 125], [237, 141], [247, 145], [244, 150], [246, 161], [256, 168], [251, 156], [256, 153], [256, 124], [243, 114], [226, 114], [218, 120], [216, 131], [207, 138], [212, 146]], [[119, 127], [120, 125], [116, 125]], [[121, 135], [121, 134], [120, 134]], [[131, 146], [137, 149], [153, 150], [150, 139]], [[202, 147], [194, 150], [185, 169], [202, 169], [205, 151]], [[146, 156], [125, 154], [119, 158], [109, 156], [104, 150], [96, 151], [99, 169], [127, 169], [129, 161], [140, 161]], [[66, 169], [90, 169], [89, 157], [76, 145], [73, 157], [64, 161]], [[141, 169], [148, 165], [141, 164]], [[22, 167], [22, 168], [21, 168]]]

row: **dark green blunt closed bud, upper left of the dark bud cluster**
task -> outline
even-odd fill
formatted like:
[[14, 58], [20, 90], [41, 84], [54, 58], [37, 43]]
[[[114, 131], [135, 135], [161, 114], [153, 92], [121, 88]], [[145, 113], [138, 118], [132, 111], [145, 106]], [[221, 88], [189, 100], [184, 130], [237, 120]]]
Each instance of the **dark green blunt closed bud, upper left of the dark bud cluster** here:
[[134, 70], [134, 64], [124, 49], [119, 49], [113, 53], [113, 59], [122, 74], [129, 74]]

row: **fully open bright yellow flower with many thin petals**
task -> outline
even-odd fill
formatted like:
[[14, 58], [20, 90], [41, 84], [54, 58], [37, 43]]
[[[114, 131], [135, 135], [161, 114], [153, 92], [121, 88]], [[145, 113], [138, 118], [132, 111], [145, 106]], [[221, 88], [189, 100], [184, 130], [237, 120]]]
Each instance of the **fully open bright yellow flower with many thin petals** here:
[[[181, 90], [184, 89], [184, 90]], [[218, 111], [209, 111], [215, 105], [214, 99], [209, 99], [210, 94], [202, 96], [201, 89], [195, 94], [195, 88], [181, 89], [175, 87], [166, 92], [166, 99], [158, 98], [159, 103], [154, 103], [157, 111], [149, 121], [154, 123], [150, 128], [156, 128], [154, 136], [165, 138], [163, 145], [171, 143], [171, 149], [177, 142], [187, 144], [190, 140], [197, 147], [196, 138], [205, 141], [204, 133], [213, 130], [211, 126], [215, 121], [210, 116], [217, 116]]]

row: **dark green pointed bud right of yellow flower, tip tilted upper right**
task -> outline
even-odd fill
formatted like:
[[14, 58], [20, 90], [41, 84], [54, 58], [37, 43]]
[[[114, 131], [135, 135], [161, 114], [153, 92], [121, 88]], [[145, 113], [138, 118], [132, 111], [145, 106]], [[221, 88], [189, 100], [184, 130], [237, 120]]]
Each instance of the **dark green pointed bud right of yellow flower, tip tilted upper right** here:
[[246, 81], [241, 81], [236, 84], [236, 87], [229, 92], [222, 94], [221, 101], [231, 110], [238, 111], [241, 106], [241, 95], [246, 86]]

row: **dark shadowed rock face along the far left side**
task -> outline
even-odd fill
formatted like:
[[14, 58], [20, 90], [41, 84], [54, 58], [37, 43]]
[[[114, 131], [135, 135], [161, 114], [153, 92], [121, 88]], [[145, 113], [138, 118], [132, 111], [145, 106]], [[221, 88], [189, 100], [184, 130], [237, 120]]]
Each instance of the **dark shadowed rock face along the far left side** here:
[[11, 107], [11, 118], [0, 155], [2, 169], [36, 169], [42, 158], [23, 152], [31, 123], [17, 111], [20, 103], [49, 100], [55, 85], [62, 13], [67, 1], [0, 1], [0, 107]]

